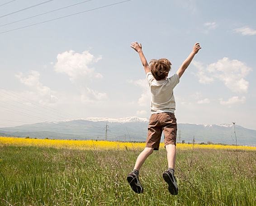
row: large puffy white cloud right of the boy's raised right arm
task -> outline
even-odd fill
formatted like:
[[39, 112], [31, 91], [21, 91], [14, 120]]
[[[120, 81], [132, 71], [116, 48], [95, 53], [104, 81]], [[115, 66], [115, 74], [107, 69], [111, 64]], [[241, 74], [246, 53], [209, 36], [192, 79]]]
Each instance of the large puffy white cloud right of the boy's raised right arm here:
[[197, 76], [200, 83], [210, 84], [214, 80], [221, 80], [232, 92], [247, 93], [249, 82], [245, 77], [250, 73], [251, 68], [242, 61], [224, 57], [205, 68], [199, 62], [193, 64], [198, 68]]

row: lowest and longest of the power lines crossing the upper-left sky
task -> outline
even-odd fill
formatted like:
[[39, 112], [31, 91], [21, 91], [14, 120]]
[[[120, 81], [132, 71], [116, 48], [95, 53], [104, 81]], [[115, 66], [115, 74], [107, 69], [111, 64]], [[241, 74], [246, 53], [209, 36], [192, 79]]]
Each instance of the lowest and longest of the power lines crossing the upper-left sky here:
[[32, 27], [32, 26], [35, 26], [35, 25], [38, 25], [38, 24], [47, 23], [47, 22], [55, 21], [55, 20], [58, 20], [58, 19], [63, 19], [63, 18], [70, 17], [70, 16], [75, 16], [75, 15], [77, 15], [77, 14], [82, 14], [82, 13], [89, 12], [89, 11], [93, 11], [93, 10], [97, 10], [97, 9], [103, 9], [103, 8], [105, 8], [105, 7], [110, 7], [110, 6], [122, 4], [122, 3], [125, 3], [125, 2], [128, 2], [128, 1], [131, 1], [131, 0], [120, 1], [120, 2], [117, 2], [117, 3], [114, 3], [114, 4], [105, 5], [105, 6], [100, 6], [100, 7], [97, 7], [97, 8], [95, 8], [95, 9], [89, 9], [89, 10], [81, 11], [81, 12], [78, 12], [78, 13], [75, 13], [75, 14], [69, 14], [69, 15], [62, 16], [62, 17], [58, 17], [58, 18], [55, 18], [55, 19], [50, 19], [50, 20], [46, 20], [46, 21], [43, 21], [43, 22], [30, 24], [30, 25], [27, 25], [27, 26], [24, 26], [24, 27], [19, 27], [19, 28], [10, 29], [10, 30], [7, 30], [7, 31], [5, 31], [5, 32], [0, 32], [0, 34], [1, 34], [1, 33], [11, 32], [11, 31], [15, 31], [15, 30], [19, 30], [19, 29], [22, 29], [22, 28]]

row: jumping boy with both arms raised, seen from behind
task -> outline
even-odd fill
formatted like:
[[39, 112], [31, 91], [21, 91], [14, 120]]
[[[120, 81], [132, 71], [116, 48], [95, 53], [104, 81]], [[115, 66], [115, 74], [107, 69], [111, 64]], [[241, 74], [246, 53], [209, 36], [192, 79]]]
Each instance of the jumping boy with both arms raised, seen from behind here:
[[192, 52], [182, 63], [177, 73], [167, 78], [171, 70], [171, 62], [167, 59], [153, 59], [147, 63], [142, 52], [142, 44], [133, 42], [131, 47], [138, 52], [142, 65], [147, 76], [147, 82], [151, 93], [151, 117], [148, 124], [147, 140], [145, 149], [138, 155], [134, 169], [128, 174], [127, 180], [134, 192], [142, 193], [143, 187], [139, 182], [139, 170], [147, 157], [153, 150], [159, 150], [161, 134], [165, 136], [165, 148], [167, 151], [168, 169], [163, 173], [163, 178], [168, 184], [168, 190], [172, 195], [178, 194], [178, 186], [174, 176], [176, 161], [176, 136], [177, 123], [175, 118], [175, 98], [173, 89], [180, 82], [183, 75], [194, 56], [201, 49], [196, 43]]

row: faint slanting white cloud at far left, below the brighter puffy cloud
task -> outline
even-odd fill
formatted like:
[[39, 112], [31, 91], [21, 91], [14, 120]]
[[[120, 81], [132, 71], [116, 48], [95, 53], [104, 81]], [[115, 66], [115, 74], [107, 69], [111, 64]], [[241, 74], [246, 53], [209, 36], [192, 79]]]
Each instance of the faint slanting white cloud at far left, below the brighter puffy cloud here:
[[38, 102], [42, 105], [52, 106], [54, 103], [57, 103], [58, 98], [55, 95], [55, 92], [52, 91], [49, 87], [44, 86], [39, 81], [40, 73], [38, 71], [31, 70], [28, 77], [23, 77], [23, 73], [19, 73], [19, 75], [15, 75], [19, 81], [30, 87], [32, 92], [29, 92], [29, 96], [37, 96]]

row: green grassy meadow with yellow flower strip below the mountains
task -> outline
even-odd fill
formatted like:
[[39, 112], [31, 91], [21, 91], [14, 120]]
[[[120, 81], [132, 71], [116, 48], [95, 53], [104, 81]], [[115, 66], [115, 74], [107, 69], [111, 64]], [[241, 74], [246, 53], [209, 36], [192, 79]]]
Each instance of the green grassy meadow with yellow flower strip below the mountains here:
[[0, 137], [0, 206], [256, 206], [256, 148], [178, 144], [172, 196], [161, 144], [127, 183], [144, 143]]

